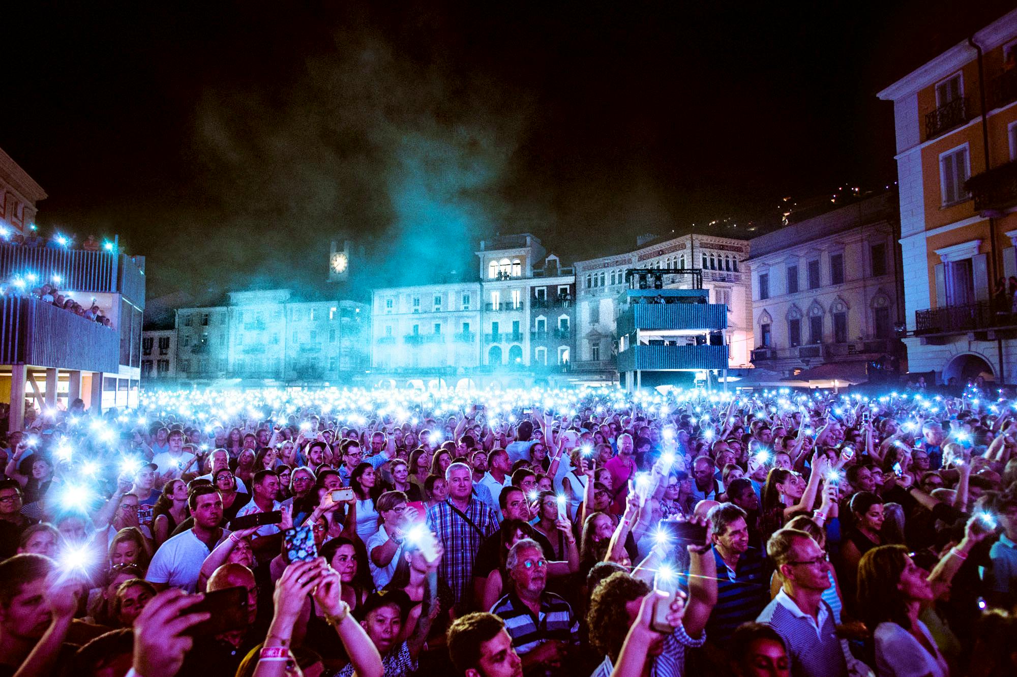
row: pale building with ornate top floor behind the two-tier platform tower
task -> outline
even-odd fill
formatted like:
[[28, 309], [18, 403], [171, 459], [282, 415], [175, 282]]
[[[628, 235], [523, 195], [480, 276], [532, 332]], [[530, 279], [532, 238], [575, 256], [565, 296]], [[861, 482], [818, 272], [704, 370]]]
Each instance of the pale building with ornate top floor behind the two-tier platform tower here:
[[[744, 261], [749, 243], [734, 238], [686, 234], [637, 243], [632, 252], [579, 261], [576, 283], [576, 368], [616, 370], [617, 317], [627, 303], [625, 270], [629, 268], [700, 268], [708, 300], [727, 306], [724, 343], [728, 367], [750, 366], [753, 322], [752, 283]], [[664, 275], [664, 289], [693, 289], [690, 275]]]

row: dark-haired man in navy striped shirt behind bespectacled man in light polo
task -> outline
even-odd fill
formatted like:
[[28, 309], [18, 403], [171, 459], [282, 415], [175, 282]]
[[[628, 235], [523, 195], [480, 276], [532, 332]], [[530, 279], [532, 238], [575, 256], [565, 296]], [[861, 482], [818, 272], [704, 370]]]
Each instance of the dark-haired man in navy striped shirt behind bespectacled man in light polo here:
[[721, 649], [736, 627], [756, 620], [770, 602], [770, 567], [763, 553], [749, 545], [746, 516], [734, 503], [714, 506], [709, 514], [717, 562], [717, 604], [706, 631]]

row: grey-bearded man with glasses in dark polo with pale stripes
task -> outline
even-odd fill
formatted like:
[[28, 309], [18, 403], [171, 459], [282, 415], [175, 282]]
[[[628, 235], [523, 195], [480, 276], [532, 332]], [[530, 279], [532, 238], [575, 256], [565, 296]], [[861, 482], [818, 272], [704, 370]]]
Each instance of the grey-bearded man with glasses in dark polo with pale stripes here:
[[512, 578], [507, 595], [491, 613], [501, 618], [527, 675], [566, 674], [562, 664], [579, 643], [579, 621], [569, 603], [544, 590], [547, 560], [540, 545], [523, 539], [508, 551], [505, 569]]

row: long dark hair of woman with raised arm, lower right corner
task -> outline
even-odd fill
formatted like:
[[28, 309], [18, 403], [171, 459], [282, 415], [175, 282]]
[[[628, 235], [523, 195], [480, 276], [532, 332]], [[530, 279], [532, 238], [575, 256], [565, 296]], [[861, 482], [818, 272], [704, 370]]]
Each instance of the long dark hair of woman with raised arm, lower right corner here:
[[884, 621], [910, 627], [907, 604], [897, 589], [907, 566], [907, 547], [877, 546], [858, 562], [858, 612], [871, 632]]

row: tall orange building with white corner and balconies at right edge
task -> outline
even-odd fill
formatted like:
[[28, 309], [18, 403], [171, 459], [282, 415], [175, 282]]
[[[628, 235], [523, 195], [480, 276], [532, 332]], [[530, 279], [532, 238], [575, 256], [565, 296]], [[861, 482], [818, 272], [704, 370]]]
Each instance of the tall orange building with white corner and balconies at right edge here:
[[892, 101], [911, 373], [1017, 381], [1017, 10], [879, 93]]

